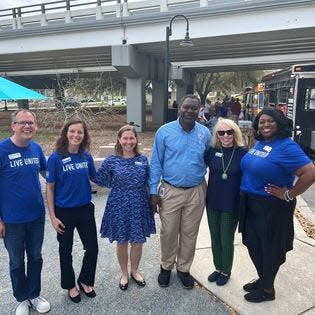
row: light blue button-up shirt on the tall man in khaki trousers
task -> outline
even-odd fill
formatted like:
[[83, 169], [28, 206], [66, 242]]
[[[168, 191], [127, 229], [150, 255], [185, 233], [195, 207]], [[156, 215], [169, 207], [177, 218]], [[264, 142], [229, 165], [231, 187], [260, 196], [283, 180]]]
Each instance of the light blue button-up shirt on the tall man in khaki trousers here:
[[150, 164], [150, 193], [156, 195], [160, 179], [178, 187], [199, 185], [206, 174], [204, 152], [210, 146], [209, 130], [195, 123], [186, 132], [179, 119], [156, 132]]

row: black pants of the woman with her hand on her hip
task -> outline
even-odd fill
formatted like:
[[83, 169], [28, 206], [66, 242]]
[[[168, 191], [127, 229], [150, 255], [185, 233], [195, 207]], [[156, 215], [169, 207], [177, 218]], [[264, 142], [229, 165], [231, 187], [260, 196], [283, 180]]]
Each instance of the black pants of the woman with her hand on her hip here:
[[251, 194], [245, 197], [243, 242], [265, 289], [273, 288], [286, 252], [293, 248], [295, 203]]

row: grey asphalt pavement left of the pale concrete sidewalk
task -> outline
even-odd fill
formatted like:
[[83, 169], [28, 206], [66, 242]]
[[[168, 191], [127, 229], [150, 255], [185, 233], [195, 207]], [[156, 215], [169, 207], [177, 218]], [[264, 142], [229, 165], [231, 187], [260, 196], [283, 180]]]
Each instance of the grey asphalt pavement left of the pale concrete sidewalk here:
[[[97, 225], [100, 225], [106, 190], [99, 190], [93, 196], [97, 213]], [[159, 220], [157, 219], [157, 228]], [[60, 270], [58, 244], [56, 233], [46, 217], [45, 240], [43, 246], [44, 266], [42, 272], [42, 295], [51, 302], [53, 315], [138, 315], [138, 314], [218, 314], [229, 315], [229, 309], [214, 295], [201, 286], [193, 290], [182, 287], [176, 273], [172, 273], [168, 288], [160, 288], [157, 276], [160, 263], [159, 235], [151, 237], [145, 244], [141, 263], [142, 273], [147, 281], [144, 288], [130, 282], [127, 291], [118, 287], [120, 272], [116, 260], [115, 246], [107, 240], [99, 238], [99, 256], [96, 274], [95, 290], [97, 297], [89, 299], [85, 296], [79, 304], [72, 303], [67, 297], [67, 291], [59, 285]], [[74, 266], [76, 274], [80, 268], [82, 245], [75, 237]], [[0, 315], [14, 314], [16, 306], [12, 296], [11, 283], [8, 274], [8, 257], [0, 241]], [[34, 312], [32, 314], [35, 314]]]

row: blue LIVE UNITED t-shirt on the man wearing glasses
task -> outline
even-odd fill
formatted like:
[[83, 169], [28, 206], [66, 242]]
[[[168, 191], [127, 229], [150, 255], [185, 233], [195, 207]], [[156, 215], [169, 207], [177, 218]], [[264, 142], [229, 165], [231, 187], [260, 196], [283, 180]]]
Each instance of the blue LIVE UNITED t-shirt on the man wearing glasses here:
[[38, 143], [0, 142], [0, 216], [5, 223], [25, 223], [45, 215], [39, 172], [46, 159]]

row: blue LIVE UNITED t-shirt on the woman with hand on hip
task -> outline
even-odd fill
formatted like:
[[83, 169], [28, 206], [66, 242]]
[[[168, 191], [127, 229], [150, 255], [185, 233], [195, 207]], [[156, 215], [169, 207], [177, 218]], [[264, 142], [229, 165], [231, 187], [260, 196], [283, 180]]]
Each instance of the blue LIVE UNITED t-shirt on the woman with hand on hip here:
[[241, 160], [241, 190], [270, 196], [265, 191], [268, 184], [290, 189], [295, 178], [294, 172], [308, 163], [310, 159], [290, 138], [257, 141]]

